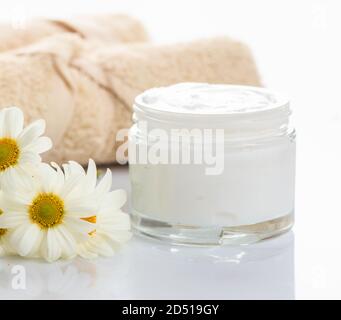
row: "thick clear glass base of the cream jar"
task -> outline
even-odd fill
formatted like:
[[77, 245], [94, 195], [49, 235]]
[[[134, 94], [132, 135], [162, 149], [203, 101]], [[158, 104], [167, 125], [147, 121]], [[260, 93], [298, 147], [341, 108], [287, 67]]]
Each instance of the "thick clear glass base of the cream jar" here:
[[170, 224], [133, 212], [134, 233], [175, 245], [219, 246], [251, 244], [290, 230], [294, 213], [257, 224], [234, 227], [200, 227]]

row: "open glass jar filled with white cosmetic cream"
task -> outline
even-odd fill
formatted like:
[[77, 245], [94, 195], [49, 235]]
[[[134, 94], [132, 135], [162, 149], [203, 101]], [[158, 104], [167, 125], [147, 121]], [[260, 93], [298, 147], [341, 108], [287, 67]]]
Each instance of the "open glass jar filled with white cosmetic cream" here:
[[135, 99], [136, 232], [176, 244], [248, 244], [293, 225], [289, 101], [251, 86], [180, 83]]

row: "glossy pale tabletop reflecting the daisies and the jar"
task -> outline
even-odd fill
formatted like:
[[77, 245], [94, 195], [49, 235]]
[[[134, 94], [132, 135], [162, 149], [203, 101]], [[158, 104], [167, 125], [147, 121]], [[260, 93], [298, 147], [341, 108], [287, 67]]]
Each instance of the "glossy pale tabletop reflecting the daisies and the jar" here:
[[[12, 286], [15, 265], [26, 289]], [[0, 299], [293, 299], [294, 235], [193, 248], [135, 237], [108, 259], [0, 260]]]

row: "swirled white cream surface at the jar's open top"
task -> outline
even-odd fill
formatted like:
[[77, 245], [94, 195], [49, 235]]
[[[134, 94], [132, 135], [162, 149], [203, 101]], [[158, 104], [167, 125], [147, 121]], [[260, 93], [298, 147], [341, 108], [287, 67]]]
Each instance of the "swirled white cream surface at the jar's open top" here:
[[141, 95], [148, 108], [190, 114], [240, 114], [283, 107], [285, 98], [264, 88], [207, 83], [179, 83]]

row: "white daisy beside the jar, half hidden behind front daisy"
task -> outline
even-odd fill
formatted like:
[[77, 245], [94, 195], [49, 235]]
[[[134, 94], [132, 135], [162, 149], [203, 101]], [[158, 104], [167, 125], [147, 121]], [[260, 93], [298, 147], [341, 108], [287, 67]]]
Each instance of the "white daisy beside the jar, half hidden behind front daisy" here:
[[80, 192], [94, 194], [98, 203], [98, 210], [84, 219], [95, 225], [87, 240], [78, 245], [78, 254], [83, 258], [112, 256], [120, 245], [131, 238], [129, 215], [121, 210], [127, 200], [126, 192], [111, 191], [112, 175], [109, 169], [96, 185], [96, 164], [91, 159], [87, 172], [75, 162], [64, 165], [64, 171], [67, 179], [73, 175], [83, 175], [86, 182]]

